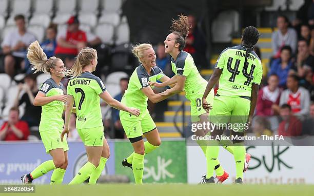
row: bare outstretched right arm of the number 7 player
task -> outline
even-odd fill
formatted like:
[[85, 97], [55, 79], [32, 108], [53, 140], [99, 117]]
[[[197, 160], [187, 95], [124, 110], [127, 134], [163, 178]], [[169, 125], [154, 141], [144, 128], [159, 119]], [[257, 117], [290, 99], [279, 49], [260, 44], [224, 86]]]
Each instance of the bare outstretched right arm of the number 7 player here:
[[132, 115], [139, 116], [140, 110], [137, 108], [129, 108], [126, 105], [122, 104], [121, 102], [112, 98], [108, 91], [104, 91], [99, 95], [101, 99], [103, 99], [110, 107], [113, 107], [118, 110], [123, 110], [129, 112]]

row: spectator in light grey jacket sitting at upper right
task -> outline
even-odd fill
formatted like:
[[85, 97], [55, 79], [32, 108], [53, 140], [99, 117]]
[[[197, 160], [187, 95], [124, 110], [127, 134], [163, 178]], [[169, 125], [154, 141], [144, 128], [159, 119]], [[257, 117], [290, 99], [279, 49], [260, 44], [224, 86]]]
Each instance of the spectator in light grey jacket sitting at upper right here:
[[271, 36], [271, 47], [274, 58], [280, 57], [281, 48], [288, 45], [292, 49], [292, 54], [296, 53], [298, 36], [295, 29], [289, 27], [289, 20], [286, 16], [277, 17], [277, 31]]

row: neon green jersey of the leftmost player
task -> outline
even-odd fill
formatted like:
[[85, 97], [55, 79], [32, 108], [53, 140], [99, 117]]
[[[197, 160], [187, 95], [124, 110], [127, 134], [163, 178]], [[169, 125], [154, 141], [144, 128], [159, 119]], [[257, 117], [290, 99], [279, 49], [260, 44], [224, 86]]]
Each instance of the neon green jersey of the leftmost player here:
[[[38, 92], [44, 93], [46, 96], [54, 96], [63, 94], [63, 85], [57, 85], [54, 80], [46, 80], [40, 87]], [[64, 121], [62, 119], [63, 102], [52, 101], [42, 106], [42, 116], [39, 130], [49, 131], [58, 130], [60, 133], [63, 130]]]

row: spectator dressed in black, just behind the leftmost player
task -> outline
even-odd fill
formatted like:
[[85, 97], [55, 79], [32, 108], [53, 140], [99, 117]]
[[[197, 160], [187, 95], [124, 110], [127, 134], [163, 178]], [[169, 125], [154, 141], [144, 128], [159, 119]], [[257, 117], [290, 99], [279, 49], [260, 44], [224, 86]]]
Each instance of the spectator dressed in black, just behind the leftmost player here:
[[[19, 99], [19, 95], [22, 90], [25, 93], [22, 95], [21, 99]], [[24, 78], [24, 84], [18, 84], [18, 91], [15, 97], [14, 107], [18, 107], [25, 103], [25, 112], [22, 116], [22, 121], [26, 121], [29, 127], [39, 126], [41, 120], [42, 108], [36, 107], [33, 105], [34, 98], [38, 92], [37, 83], [36, 83], [36, 75], [28, 74]]]

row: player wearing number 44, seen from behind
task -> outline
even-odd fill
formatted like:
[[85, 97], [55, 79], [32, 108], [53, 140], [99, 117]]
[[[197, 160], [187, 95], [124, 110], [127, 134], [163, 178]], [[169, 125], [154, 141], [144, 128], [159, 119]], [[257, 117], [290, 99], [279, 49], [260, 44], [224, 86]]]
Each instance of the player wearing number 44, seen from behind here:
[[[214, 97], [210, 121], [214, 124], [228, 122], [239, 127], [233, 129], [232, 135], [244, 136], [244, 124], [252, 120], [257, 103], [259, 85], [262, 80], [262, 64], [253, 46], [259, 41], [260, 33], [255, 27], [247, 27], [242, 34], [242, 45], [226, 48], [219, 56], [213, 74], [211, 75], [204, 95], [202, 97], [203, 108], [211, 109], [206, 97], [219, 80], [219, 89]], [[238, 125], [237, 125], [238, 124]], [[211, 135], [222, 135], [223, 129], [214, 129]], [[217, 141], [211, 141], [207, 147], [207, 175], [202, 180], [204, 184], [213, 183], [213, 170], [218, 158], [219, 146]], [[242, 139], [234, 139], [233, 156], [237, 175], [235, 183], [242, 184], [243, 167], [245, 165], [245, 147]]]

